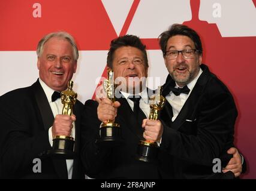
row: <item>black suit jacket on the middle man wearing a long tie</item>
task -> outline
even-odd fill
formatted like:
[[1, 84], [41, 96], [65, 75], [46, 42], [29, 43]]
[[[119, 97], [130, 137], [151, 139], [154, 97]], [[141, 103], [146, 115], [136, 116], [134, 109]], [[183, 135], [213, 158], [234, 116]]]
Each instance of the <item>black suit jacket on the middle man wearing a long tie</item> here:
[[101, 121], [97, 116], [98, 103], [88, 100], [82, 116], [82, 162], [86, 174], [92, 178], [159, 178], [156, 164], [135, 159], [138, 143], [143, 140], [143, 128], [138, 125], [134, 113], [125, 98], [121, 103], [115, 122], [120, 125], [123, 143], [116, 147], [100, 147]]

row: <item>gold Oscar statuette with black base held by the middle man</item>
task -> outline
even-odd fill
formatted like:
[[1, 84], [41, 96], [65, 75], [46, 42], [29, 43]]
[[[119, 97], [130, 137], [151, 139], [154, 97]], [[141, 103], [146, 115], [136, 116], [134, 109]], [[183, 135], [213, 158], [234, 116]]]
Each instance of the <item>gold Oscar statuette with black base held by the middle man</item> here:
[[[107, 71], [107, 79], [103, 81], [103, 89], [112, 103], [115, 102], [115, 88], [114, 72], [112, 69]], [[116, 146], [122, 142], [121, 128], [115, 120], [108, 120], [106, 124], [101, 124], [100, 138], [97, 140], [97, 144], [101, 146]]]

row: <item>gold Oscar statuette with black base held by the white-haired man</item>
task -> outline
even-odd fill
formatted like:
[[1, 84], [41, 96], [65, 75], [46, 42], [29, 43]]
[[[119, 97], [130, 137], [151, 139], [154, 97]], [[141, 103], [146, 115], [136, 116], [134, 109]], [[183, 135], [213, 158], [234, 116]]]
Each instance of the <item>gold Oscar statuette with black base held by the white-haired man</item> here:
[[[77, 93], [73, 90], [73, 81], [68, 81], [68, 88], [61, 92], [61, 103], [63, 104], [62, 115], [72, 115], [73, 106], [77, 100]], [[74, 138], [66, 135], [53, 137], [53, 149], [49, 154], [59, 158], [74, 158]]]

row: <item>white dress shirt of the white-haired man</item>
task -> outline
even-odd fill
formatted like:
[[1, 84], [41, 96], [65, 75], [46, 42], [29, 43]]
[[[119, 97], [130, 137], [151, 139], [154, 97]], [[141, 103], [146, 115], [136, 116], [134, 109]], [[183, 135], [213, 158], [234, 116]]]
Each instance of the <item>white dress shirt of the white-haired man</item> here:
[[[55, 118], [56, 115], [58, 114], [62, 114], [62, 108], [63, 108], [63, 104], [61, 103], [61, 98], [58, 98], [55, 101], [52, 101], [52, 94], [54, 93], [54, 90], [52, 90], [52, 88], [49, 88], [40, 78], [39, 78], [39, 82], [41, 84], [41, 87], [44, 90], [44, 93], [46, 94], [47, 100], [50, 104], [50, 107], [52, 109], [52, 113], [53, 116]], [[49, 143], [50, 146], [53, 145], [53, 137], [52, 137], [52, 127], [49, 128]], [[75, 137], [75, 123], [73, 122], [73, 128], [71, 131], [71, 137]], [[73, 174], [73, 159], [67, 159], [66, 163], [67, 163], [67, 170], [68, 170], [68, 179], [72, 178], [72, 174]]]

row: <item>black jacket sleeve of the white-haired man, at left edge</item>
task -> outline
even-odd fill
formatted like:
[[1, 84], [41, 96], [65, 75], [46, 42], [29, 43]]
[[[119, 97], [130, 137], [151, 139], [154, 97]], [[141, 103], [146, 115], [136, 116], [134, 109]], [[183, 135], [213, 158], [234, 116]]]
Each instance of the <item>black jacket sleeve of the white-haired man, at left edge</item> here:
[[33, 125], [38, 120], [34, 106], [19, 96], [2, 96], [0, 106], [1, 174], [4, 177], [29, 174], [33, 159], [50, 148], [48, 131], [37, 131], [39, 127]]

